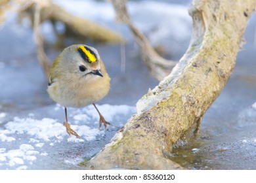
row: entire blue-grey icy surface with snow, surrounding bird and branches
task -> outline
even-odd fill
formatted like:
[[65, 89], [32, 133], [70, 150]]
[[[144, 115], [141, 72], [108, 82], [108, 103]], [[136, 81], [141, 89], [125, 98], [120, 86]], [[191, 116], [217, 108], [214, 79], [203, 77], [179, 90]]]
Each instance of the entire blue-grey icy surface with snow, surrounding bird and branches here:
[[[180, 5], [167, 3], [168, 0], [129, 1], [128, 10], [150, 42], [161, 46], [167, 57], [178, 60], [190, 41], [192, 21], [188, 4], [174, 1]], [[70, 124], [82, 139], [67, 135], [62, 125], [64, 110], [46, 92], [47, 82], [37, 60], [30, 21], [22, 19], [17, 24], [17, 15], [9, 12], [0, 28], [0, 169], [79, 169], [77, 163], [95, 156], [135, 113], [140, 97], [158, 84], [140, 60], [127, 26], [115, 22], [109, 3], [55, 2], [127, 39], [125, 71], [120, 69], [123, 65], [119, 45], [83, 42], [97, 48], [112, 78], [110, 93], [98, 104], [106, 120], [116, 127], [98, 129], [98, 116], [91, 105], [68, 108]], [[245, 50], [238, 53], [234, 73], [203, 116], [198, 138], [190, 144], [179, 142], [180, 148], [170, 154], [188, 169], [256, 169], [255, 23], [254, 15], [245, 33]], [[65, 27], [57, 22], [56, 29], [61, 33]], [[44, 22], [41, 30], [47, 41], [55, 41], [49, 22]], [[53, 61], [60, 51], [48, 49], [47, 56]]]

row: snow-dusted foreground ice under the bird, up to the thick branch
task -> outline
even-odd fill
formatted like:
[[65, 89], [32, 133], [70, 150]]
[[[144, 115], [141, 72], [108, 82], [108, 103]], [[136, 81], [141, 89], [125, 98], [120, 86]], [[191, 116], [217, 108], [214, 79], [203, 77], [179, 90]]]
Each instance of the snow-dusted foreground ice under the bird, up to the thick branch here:
[[[91, 158], [100, 150], [136, 112], [135, 107], [127, 105], [100, 105], [98, 109], [113, 125], [107, 130], [98, 129], [99, 118], [93, 106], [68, 110], [70, 124], [81, 139], [70, 137], [60, 119], [37, 117], [43, 116], [38, 110], [27, 117], [4, 120], [5, 125], [0, 127], [0, 169], [74, 169], [83, 158]], [[44, 108], [44, 112], [45, 116], [64, 117], [64, 108], [59, 105]]]

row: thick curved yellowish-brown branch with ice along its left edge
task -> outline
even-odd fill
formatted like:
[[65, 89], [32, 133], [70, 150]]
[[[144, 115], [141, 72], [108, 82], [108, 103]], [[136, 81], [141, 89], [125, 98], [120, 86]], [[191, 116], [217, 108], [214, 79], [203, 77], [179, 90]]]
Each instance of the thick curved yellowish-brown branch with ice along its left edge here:
[[168, 154], [177, 141], [198, 129], [226, 84], [255, 6], [254, 0], [193, 1], [188, 50], [171, 74], [138, 101], [137, 114], [84, 163], [85, 168], [182, 169]]

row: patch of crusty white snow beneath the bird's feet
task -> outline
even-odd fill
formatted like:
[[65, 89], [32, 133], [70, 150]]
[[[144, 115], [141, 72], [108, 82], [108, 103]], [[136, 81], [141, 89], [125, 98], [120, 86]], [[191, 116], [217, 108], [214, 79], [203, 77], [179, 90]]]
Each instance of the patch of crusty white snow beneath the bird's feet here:
[[[122, 120], [125, 116], [136, 112], [135, 107], [127, 105], [97, 105], [97, 107], [106, 120], [110, 122], [113, 120], [119, 124], [126, 121]], [[56, 105], [51, 107], [51, 110], [56, 108], [63, 109]], [[35, 165], [38, 163], [33, 162], [42, 161], [45, 163], [41, 159], [47, 158], [47, 156], [53, 157], [59, 153], [65, 155], [66, 151], [68, 151], [68, 157], [64, 158], [64, 162], [69, 164], [79, 163], [84, 155], [74, 156], [74, 158], [73, 155], [70, 156], [68, 150], [72, 148], [70, 145], [80, 143], [81, 145], [79, 146], [83, 146], [85, 142], [98, 141], [98, 139], [108, 135], [106, 134], [108, 131], [105, 131], [104, 127], [98, 129], [99, 116], [93, 105], [80, 109], [70, 108], [69, 112], [74, 120], [79, 122], [79, 124], [83, 124], [74, 124], [74, 120], [70, 122], [72, 129], [77, 131], [81, 139], [77, 139], [74, 135], [69, 136], [66, 133], [66, 128], [57, 119], [35, 118], [35, 116], [39, 116], [35, 112], [28, 113], [26, 118], [14, 117], [3, 125], [0, 129], [0, 141], [8, 148], [0, 148], [0, 169], [31, 169], [32, 166], [38, 166]], [[108, 127], [110, 131], [112, 131], [112, 128], [116, 131], [115, 127]], [[64, 152], [62, 152], [63, 150]], [[77, 153], [74, 149], [71, 152], [72, 154]]]

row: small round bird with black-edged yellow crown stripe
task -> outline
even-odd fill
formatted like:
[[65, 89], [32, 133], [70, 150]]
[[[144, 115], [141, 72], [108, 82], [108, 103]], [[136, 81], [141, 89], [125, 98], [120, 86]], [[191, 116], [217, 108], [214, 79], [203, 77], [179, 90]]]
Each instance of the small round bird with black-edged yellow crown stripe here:
[[108, 94], [110, 90], [110, 77], [98, 51], [85, 44], [68, 46], [53, 61], [51, 67], [47, 92], [51, 99], [65, 108], [66, 122], [63, 125], [69, 135], [79, 135], [68, 123], [67, 107], [85, 107], [93, 104], [96, 108], [100, 122], [99, 127], [106, 122], [95, 105]]

